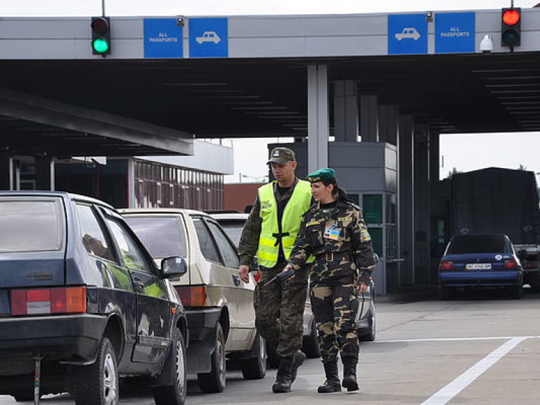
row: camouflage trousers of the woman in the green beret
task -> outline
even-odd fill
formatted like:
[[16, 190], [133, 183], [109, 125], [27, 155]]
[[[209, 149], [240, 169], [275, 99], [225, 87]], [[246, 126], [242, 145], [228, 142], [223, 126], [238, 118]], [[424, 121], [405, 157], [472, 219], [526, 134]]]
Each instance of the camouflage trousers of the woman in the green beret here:
[[319, 332], [323, 363], [350, 357], [358, 362], [359, 341], [354, 319], [358, 311], [355, 276], [345, 276], [309, 290], [311, 310]]

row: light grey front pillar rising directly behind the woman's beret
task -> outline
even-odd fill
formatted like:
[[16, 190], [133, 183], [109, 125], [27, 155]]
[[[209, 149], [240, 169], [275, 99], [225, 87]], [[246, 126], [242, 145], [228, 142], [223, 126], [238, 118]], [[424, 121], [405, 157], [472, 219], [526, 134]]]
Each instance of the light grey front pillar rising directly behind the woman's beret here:
[[307, 169], [328, 167], [328, 67], [307, 67]]

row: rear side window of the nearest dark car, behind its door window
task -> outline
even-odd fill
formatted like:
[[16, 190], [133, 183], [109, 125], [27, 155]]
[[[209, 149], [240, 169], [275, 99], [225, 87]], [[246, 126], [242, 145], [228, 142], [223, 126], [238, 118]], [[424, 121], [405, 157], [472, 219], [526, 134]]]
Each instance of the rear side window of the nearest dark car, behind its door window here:
[[103, 229], [98, 222], [96, 213], [90, 205], [77, 204], [79, 221], [81, 223], [82, 244], [90, 255], [101, 257], [102, 259], [115, 261], [115, 255], [110, 249], [110, 243]]

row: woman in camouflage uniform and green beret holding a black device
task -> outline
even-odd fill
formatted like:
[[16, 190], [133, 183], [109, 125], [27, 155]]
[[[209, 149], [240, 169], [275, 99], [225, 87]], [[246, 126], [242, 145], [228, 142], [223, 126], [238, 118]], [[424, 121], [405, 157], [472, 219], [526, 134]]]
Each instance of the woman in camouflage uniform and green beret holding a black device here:
[[307, 180], [316, 203], [304, 214], [284, 271], [301, 271], [307, 257], [315, 256], [315, 262], [307, 267], [309, 295], [326, 373], [326, 381], [318, 391], [341, 391], [338, 354], [343, 363], [342, 386], [355, 391], [359, 389], [359, 340], [354, 318], [357, 293], [366, 291], [375, 268], [371, 237], [360, 208], [347, 199], [333, 169], [319, 169]]

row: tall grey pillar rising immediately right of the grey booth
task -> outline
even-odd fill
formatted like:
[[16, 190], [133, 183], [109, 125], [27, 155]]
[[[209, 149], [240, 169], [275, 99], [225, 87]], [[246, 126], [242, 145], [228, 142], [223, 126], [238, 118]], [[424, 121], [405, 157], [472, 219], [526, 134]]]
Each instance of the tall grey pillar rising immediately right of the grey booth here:
[[401, 285], [414, 284], [414, 131], [413, 118], [410, 115], [399, 117], [398, 179], [399, 179], [399, 256], [401, 262]]

